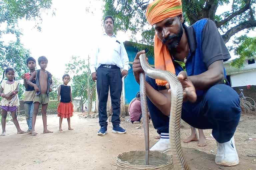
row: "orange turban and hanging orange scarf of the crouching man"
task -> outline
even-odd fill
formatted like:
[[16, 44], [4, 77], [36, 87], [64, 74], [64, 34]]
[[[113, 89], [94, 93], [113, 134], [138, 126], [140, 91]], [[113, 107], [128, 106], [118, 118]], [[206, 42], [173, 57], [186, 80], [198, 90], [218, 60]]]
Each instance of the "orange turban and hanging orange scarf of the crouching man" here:
[[[181, 0], [155, 0], [148, 5], [146, 17], [148, 23], [152, 26], [166, 18], [176, 17], [182, 14]], [[175, 74], [175, 68], [171, 55], [166, 45], [155, 35], [154, 43], [155, 68], [168, 70]], [[165, 80], [156, 79], [157, 85], [164, 86]]]

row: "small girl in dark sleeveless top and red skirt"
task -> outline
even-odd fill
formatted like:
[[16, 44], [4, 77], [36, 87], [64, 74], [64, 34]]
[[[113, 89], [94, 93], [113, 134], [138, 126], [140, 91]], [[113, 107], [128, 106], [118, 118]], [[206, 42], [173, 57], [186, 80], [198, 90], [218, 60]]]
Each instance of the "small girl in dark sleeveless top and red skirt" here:
[[60, 85], [59, 92], [58, 92], [58, 117], [60, 117], [60, 127], [59, 131], [62, 131], [61, 124], [62, 119], [67, 118], [68, 120], [68, 129], [73, 130], [73, 128], [70, 127], [70, 117], [73, 116], [73, 104], [72, 104], [72, 93], [71, 93], [71, 87], [68, 86], [68, 83], [70, 81], [70, 76], [68, 74], [64, 74], [62, 77], [63, 85]]

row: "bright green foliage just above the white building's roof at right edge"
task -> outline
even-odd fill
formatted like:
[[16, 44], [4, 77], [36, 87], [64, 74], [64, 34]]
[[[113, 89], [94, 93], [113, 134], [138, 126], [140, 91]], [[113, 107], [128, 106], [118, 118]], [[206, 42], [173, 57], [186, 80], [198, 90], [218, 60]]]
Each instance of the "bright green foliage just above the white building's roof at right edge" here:
[[245, 63], [245, 59], [254, 58], [256, 56], [256, 37], [241, 36], [236, 38], [234, 44], [235, 54], [240, 56], [230, 63], [231, 66], [236, 68], [242, 68]]

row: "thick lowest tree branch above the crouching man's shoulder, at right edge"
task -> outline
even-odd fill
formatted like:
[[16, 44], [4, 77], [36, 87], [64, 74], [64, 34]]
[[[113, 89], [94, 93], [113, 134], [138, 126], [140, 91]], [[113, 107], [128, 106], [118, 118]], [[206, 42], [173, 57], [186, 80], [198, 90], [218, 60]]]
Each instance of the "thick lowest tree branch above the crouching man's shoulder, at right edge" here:
[[222, 38], [223, 38], [224, 42], [227, 43], [229, 41], [229, 39], [233, 35], [238, 33], [239, 31], [242, 31], [244, 29], [251, 28], [251, 27], [256, 27], [256, 21], [255, 20], [249, 20], [249, 21], [245, 21], [243, 23], [238, 24], [237, 26], [228, 30], [226, 34], [222, 35]]

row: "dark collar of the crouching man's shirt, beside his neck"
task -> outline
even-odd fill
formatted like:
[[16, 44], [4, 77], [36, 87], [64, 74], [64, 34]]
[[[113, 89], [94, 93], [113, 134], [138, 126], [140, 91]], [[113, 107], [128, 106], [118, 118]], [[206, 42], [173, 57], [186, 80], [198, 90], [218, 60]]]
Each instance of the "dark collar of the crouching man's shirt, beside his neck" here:
[[195, 30], [192, 26], [189, 26], [189, 27], [185, 26], [184, 30], [188, 39], [190, 53], [193, 54], [196, 51], [196, 46], [197, 46]]

